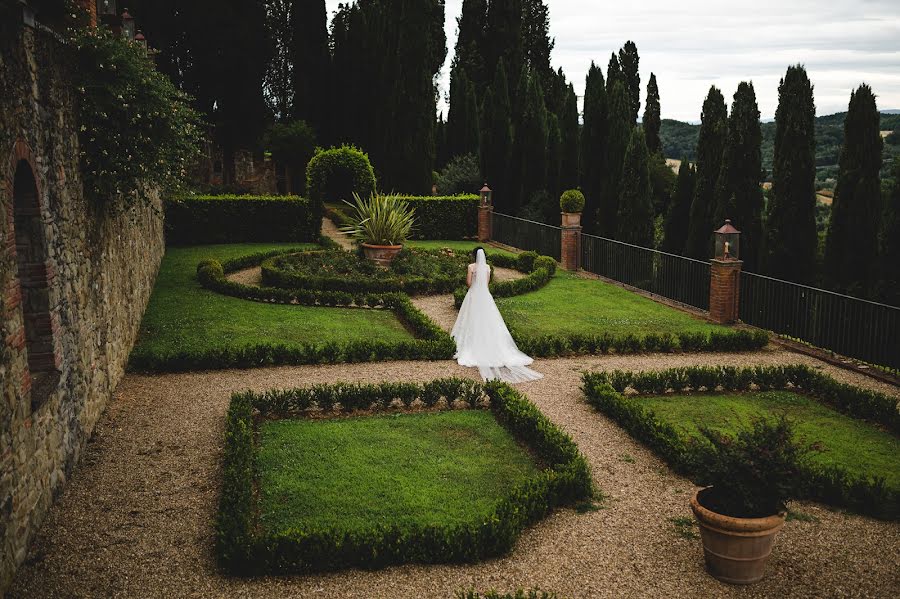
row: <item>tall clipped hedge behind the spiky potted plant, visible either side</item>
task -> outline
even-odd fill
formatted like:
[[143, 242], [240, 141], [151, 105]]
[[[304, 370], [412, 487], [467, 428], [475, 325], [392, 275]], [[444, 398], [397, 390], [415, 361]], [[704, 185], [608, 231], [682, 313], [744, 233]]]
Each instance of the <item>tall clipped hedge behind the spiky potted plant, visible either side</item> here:
[[[410, 239], [466, 240], [478, 237], [477, 195], [399, 196], [416, 213]], [[344, 205], [325, 206], [325, 216], [338, 227], [351, 224]]]

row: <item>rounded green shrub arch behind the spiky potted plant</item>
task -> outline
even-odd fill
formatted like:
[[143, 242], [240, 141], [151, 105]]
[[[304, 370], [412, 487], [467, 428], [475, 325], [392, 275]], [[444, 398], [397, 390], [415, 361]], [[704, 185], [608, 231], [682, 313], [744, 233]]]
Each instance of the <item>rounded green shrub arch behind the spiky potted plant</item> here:
[[306, 194], [312, 202], [313, 217], [320, 220], [325, 202], [350, 200], [354, 193], [368, 198], [375, 187], [375, 170], [368, 154], [354, 146], [317, 148], [306, 166]]

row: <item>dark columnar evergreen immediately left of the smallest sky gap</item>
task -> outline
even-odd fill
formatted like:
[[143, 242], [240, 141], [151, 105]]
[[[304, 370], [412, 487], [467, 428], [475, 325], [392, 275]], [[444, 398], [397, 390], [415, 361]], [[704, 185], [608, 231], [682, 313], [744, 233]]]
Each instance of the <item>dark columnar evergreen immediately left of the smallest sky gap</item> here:
[[325, 0], [291, 3], [291, 62], [293, 63], [293, 117], [312, 124], [321, 134], [327, 120], [329, 98], [323, 93], [328, 81], [328, 49]]

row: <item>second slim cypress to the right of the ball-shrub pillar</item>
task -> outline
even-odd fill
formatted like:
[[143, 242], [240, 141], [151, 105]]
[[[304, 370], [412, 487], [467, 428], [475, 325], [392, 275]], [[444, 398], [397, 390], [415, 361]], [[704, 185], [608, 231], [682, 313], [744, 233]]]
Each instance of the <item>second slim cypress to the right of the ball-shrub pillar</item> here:
[[[606, 182], [600, 195], [597, 230], [603, 237], [611, 237], [618, 230], [616, 215], [622, 182], [622, 164], [631, 141], [634, 127], [631, 121], [631, 105], [628, 92], [621, 81], [616, 81], [609, 98], [609, 137], [606, 153]], [[646, 142], [644, 143], [646, 147]]]

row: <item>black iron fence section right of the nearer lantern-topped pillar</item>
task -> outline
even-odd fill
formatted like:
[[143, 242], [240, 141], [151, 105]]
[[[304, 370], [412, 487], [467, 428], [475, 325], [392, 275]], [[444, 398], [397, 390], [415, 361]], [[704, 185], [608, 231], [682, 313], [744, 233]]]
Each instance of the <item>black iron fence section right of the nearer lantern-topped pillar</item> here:
[[752, 272], [740, 287], [747, 324], [900, 369], [900, 308]]

